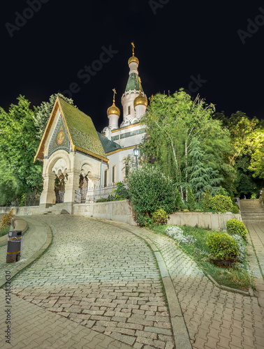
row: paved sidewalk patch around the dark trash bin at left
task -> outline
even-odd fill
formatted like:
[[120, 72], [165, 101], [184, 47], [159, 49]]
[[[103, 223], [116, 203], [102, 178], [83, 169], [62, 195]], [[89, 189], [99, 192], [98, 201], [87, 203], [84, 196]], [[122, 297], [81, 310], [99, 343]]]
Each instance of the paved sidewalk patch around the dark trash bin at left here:
[[21, 250], [21, 258], [19, 262], [15, 263], [6, 263], [6, 248], [7, 244], [4, 244], [0, 247], [0, 279], [5, 275], [6, 269], [12, 270], [17, 268], [18, 265], [21, 265], [25, 260], [31, 258], [34, 253], [36, 253], [43, 244], [45, 244], [47, 239], [47, 231], [41, 222], [34, 221], [34, 224], [31, 223], [31, 219], [27, 218], [27, 223], [29, 225], [29, 230], [24, 233], [23, 245]]

